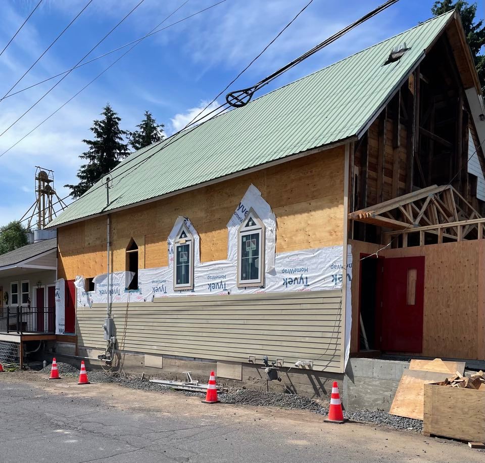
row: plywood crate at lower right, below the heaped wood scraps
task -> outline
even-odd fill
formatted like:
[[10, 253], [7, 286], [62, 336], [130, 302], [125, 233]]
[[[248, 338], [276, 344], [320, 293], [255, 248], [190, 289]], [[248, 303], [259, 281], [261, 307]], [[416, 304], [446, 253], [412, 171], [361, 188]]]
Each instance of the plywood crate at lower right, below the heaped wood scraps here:
[[485, 442], [485, 391], [424, 385], [425, 435]]

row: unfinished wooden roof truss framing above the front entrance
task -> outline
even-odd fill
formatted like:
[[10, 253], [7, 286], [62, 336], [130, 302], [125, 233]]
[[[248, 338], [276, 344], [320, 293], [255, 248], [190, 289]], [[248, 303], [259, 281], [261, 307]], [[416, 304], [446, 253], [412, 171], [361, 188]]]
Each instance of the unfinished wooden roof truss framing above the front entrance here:
[[443, 237], [461, 241], [481, 239], [485, 218], [460, 195], [451, 185], [423, 188], [407, 195], [385, 201], [349, 214], [352, 220], [391, 228], [387, 239], [408, 233], [422, 232], [437, 234], [438, 242]]

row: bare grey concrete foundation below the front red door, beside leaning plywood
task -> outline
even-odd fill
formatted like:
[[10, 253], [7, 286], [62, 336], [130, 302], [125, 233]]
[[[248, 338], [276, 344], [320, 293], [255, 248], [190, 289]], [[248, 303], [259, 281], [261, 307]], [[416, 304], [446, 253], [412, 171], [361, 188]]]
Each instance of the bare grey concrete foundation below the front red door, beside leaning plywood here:
[[401, 376], [408, 368], [407, 361], [350, 358], [344, 377], [345, 408], [389, 411]]

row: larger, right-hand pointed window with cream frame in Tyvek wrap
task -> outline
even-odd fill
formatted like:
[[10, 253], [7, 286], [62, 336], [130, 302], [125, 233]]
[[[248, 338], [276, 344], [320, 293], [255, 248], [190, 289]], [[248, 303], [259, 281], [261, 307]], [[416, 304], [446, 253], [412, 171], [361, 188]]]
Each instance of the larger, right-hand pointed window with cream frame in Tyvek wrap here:
[[264, 223], [253, 208], [237, 233], [237, 286], [264, 286]]

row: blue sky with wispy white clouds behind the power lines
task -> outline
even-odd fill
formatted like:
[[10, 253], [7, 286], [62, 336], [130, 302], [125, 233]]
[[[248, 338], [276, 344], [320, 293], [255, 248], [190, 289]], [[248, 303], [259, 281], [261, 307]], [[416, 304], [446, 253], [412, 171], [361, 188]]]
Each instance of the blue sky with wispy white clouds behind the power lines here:
[[[144, 0], [137, 10], [86, 59], [147, 34], [184, 0]], [[38, 0], [0, 0], [0, 50]], [[17, 85], [22, 89], [74, 66], [139, 0], [93, 0], [53, 48]], [[164, 25], [217, 0], [189, 0]], [[83, 8], [87, 0], [43, 0], [0, 57], [0, 98]], [[49, 121], [0, 157], [0, 225], [19, 219], [34, 201], [34, 166], [55, 171], [55, 187], [76, 181], [83, 138], [103, 106], [110, 103], [133, 129], [145, 110], [166, 132], [197, 114], [256, 56], [308, 0], [226, 0], [141, 42]], [[383, 0], [314, 0], [270, 49], [231, 87], [249, 86], [358, 19]], [[377, 17], [284, 74], [264, 91], [284, 85], [431, 16], [432, 0], [401, 0]], [[483, 17], [483, 0], [478, 2]], [[74, 70], [32, 111], [0, 136], [0, 153], [64, 104], [126, 49]], [[0, 102], [0, 133], [57, 79]], [[14, 91], [15, 91], [14, 90]], [[223, 102], [223, 97], [218, 101]]]

